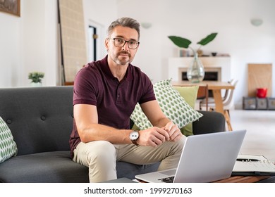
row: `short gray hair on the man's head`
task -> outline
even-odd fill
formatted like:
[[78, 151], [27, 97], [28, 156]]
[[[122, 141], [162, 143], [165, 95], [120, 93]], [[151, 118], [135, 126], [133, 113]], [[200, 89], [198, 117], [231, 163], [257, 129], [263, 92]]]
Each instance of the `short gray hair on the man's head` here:
[[135, 20], [133, 18], [118, 18], [115, 20], [111, 25], [108, 27], [107, 34], [108, 36], [113, 32], [114, 27], [116, 26], [122, 26], [122, 27], [130, 27], [132, 29], [137, 30], [138, 32], [138, 39], [140, 39], [140, 23], [138, 23], [138, 20]]

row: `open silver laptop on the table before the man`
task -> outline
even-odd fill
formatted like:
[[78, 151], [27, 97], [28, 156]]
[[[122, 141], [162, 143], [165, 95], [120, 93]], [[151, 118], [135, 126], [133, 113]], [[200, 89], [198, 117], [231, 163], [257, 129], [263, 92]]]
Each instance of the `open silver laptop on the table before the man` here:
[[138, 174], [153, 183], [214, 182], [231, 177], [246, 130], [188, 136], [176, 169]]

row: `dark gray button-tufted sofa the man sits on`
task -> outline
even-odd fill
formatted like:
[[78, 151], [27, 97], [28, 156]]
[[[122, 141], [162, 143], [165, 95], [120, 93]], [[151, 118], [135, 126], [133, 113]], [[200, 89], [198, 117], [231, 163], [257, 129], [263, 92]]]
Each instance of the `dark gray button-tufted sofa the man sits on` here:
[[[68, 139], [73, 126], [73, 87], [0, 89], [0, 117], [11, 129], [18, 155], [0, 163], [0, 182], [89, 182], [88, 168], [74, 163]], [[193, 122], [194, 134], [223, 132], [221, 113]], [[158, 164], [117, 163], [118, 178], [157, 170]]]

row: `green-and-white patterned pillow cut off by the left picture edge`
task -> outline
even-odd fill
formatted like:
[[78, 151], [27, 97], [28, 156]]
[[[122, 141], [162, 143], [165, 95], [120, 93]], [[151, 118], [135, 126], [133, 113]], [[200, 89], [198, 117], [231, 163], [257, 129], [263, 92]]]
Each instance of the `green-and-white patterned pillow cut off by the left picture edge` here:
[[11, 130], [6, 122], [0, 117], [0, 163], [8, 160], [12, 156], [16, 156], [17, 146], [13, 141]]

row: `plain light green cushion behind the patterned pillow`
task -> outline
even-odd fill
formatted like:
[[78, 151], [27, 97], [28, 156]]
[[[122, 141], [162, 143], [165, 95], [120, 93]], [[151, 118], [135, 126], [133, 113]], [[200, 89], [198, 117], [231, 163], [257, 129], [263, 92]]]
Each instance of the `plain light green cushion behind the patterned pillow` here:
[[[195, 103], [197, 100], [197, 91], [199, 89], [198, 86], [190, 86], [190, 87], [173, 87], [176, 89], [181, 96], [183, 96], [184, 100], [186, 103], [188, 103], [191, 108], [195, 108]], [[181, 128], [181, 132], [185, 136], [190, 136], [193, 135], [193, 122], [190, 122], [188, 125], [185, 127]]]

